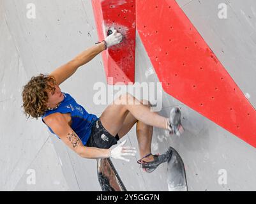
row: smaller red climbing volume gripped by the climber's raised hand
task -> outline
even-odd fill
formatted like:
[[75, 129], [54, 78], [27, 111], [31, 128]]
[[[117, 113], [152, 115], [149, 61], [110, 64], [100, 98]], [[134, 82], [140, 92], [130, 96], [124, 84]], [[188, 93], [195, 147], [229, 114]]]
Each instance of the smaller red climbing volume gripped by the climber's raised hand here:
[[135, 74], [135, 1], [92, 0], [99, 41], [114, 27], [123, 34], [123, 42], [102, 52], [107, 84], [134, 83]]

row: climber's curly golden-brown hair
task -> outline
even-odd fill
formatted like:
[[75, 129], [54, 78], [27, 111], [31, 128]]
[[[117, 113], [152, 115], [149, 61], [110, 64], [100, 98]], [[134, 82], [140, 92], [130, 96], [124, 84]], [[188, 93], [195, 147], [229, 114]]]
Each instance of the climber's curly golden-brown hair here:
[[37, 77], [32, 77], [29, 82], [24, 85], [22, 91], [22, 100], [24, 113], [29, 119], [33, 117], [38, 119], [45, 114], [47, 110], [47, 101], [49, 99], [47, 91], [52, 91], [55, 88], [56, 79], [50, 75], [40, 74]]

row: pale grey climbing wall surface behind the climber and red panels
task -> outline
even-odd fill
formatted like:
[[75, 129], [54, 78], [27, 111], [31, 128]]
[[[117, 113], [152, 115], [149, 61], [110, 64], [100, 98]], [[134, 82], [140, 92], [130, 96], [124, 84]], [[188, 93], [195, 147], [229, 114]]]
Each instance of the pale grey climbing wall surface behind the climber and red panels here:
[[[36, 6], [36, 18], [26, 17], [27, 4]], [[179, 0], [179, 6], [197, 28], [230, 76], [256, 106], [256, 3], [253, 0]], [[227, 4], [227, 19], [218, 18], [218, 4]], [[0, 190], [100, 191], [96, 161], [82, 159], [55, 136], [40, 119], [22, 113], [22, 85], [34, 75], [50, 73], [98, 40], [89, 0], [0, 0]], [[136, 38], [135, 82], [158, 82], [146, 50]], [[94, 105], [93, 85], [106, 84], [102, 56], [82, 66], [61, 84], [87, 112], [97, 116], [107, 105]], [[184, 90], [185, 91], [185, 90]], [[253, 92], [254, 91], [254, 92]], [[140, 97], [140, 96], [137, 96]], [[167, 137], [154, 128], [153, 153], [171, 145], [183, 158], [190, 191], [255, 191], [256, 150], [190, 107], [163, 92], [160, 114], [173, 106], [183, 112], [186, 132]], [[248, 124], [250, 128], [250, 124]], [[138, 147], [135, 127], [128, 145]], [[123, 139], [122, 139], [123, 140]], [[136, 160], [113, 161], [128, 191], [167, 191], [166, 164], [153, 173], [140, 170]], [[31, 170], [36, 184], [29, 184]], [[227, 184], [219, 184], [222, 170]]]

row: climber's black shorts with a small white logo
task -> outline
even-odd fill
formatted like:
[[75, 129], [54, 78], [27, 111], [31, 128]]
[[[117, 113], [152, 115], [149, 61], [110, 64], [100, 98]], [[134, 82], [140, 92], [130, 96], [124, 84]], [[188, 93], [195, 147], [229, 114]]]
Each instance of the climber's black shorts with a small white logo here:
[[112, 145], [116, 145], [118, 140], [118, 134], [116, 134], [116, 136], [112, 136], [107, 129], [102, 126], [102, 122], [100, 122], [99, 118], [93, 124], [91, 135], [86, 143], [86, 147], [109, 149]]

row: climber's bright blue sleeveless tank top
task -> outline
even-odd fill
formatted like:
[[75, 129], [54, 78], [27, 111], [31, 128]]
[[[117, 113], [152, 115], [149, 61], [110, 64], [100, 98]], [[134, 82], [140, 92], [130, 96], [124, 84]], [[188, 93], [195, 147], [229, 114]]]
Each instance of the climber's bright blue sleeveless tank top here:
[[[63, 101], [61, 101], [59, 106], [54, 110], [47, 110], [47, 112], [45, 112], [45, 115], [41, 117], [41, 120], [43, 121], [44, 117], [52, 113], [71, 113], [71, 128], [79, 136], [82, 143], [86, 145], [86, 142], [91, 134], [91, 128], [94, 122], [98, 120], [98, 117], [96, 115], [87, 113], [84, 107], [79, 105], [75, 101], [75, 99], [73, 99], [72, 96], [70, 96], [70, 94], [63, 92], [63, 95], [64, 99]], [[45, 122], [43, 121], [43, 123]], [[56, 135], [49, 126], [47, 127], [50, 129], [51, 133]], [[59, 136], [57, 137], [59, 138]]]

